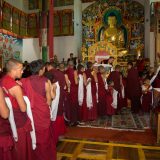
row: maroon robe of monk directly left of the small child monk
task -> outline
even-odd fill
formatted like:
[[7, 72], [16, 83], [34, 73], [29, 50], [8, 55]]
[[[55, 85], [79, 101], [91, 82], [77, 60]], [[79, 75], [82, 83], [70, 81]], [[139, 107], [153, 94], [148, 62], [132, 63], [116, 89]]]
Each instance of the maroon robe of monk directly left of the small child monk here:
[[98, 79], [98, 104], [97, 104], [98, 116], [105, 116], [106, 115], [106, 89], [105, 89], [105, 83], [101, 73], [97, 74], [97, 79]]

